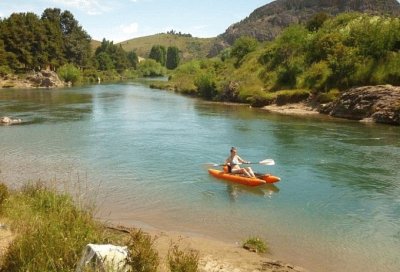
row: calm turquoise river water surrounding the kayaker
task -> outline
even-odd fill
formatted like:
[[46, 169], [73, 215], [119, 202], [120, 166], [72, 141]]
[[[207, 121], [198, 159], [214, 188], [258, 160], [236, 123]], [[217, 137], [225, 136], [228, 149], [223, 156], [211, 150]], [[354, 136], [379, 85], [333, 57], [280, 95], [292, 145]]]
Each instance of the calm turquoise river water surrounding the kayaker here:
[[[57, 183], [98, 216], [240, 242], [312, 271], [399, 271], [400, 128], [291, 117], [141, 83], [0, 90], [0, 180]], [[247, 188], [207, 174], [231, 146], [281, 177]]]

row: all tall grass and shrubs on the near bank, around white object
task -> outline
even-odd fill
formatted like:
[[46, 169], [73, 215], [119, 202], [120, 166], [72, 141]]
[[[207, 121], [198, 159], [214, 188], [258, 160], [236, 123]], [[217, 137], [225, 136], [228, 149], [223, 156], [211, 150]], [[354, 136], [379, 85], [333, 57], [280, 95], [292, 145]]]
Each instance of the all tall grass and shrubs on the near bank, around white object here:
[[[149, 234], [112, 231], [93, 219], [93, 207], [79, 207], [41, 183], [12, 192], [0, 183], [0, 218], [15, 234], [1, 254], [0, 271], [75, 271], [88, 243], [127, 245], [130, 271], [157, 271], [162, 260]], [[164, 262], [170, 271], [196, 271], [198, 252], [171, 242]]]

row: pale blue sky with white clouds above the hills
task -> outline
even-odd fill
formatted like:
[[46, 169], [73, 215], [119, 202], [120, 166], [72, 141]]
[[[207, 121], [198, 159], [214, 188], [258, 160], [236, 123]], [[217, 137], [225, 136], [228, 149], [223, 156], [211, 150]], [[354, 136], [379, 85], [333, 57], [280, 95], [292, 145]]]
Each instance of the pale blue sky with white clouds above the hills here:
[[92, 39], [114, 43], [170, 30], [216, 37], [272, 0], [0, 0], [0, 17], [70, 11]]

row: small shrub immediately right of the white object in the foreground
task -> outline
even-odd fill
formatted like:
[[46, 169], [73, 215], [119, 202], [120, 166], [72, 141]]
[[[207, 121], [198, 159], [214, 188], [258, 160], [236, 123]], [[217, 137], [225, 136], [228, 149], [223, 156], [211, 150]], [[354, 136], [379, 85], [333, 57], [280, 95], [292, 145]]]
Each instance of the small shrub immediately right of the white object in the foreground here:
[[154, 239], [141, 230], [131, 231], [126, 264], [134, 272], [156, 272], [160, 263]]

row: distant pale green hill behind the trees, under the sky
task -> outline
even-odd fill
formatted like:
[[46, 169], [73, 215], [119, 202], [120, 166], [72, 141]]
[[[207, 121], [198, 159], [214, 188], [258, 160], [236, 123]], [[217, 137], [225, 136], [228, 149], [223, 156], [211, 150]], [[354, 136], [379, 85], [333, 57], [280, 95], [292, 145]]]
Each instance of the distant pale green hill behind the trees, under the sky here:
[[176, 46], [182, 52], [182, 61], [206, 57], [214, 38], [194, 38], [175, 34], [155, 34], [121, 42], [125, 51], [135, 50], [139, 57], [147, 58], [153, 45]]

